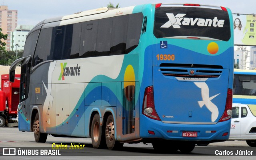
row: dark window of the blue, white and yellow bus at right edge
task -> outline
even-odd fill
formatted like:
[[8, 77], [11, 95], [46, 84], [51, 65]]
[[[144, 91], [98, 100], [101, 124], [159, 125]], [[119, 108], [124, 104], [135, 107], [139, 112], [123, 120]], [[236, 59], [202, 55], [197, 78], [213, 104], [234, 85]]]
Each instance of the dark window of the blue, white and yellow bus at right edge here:
[[256, 96], [256, 75], [234, 75], [233, 94]]

